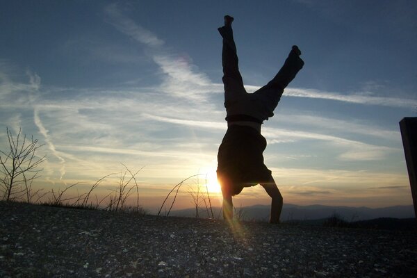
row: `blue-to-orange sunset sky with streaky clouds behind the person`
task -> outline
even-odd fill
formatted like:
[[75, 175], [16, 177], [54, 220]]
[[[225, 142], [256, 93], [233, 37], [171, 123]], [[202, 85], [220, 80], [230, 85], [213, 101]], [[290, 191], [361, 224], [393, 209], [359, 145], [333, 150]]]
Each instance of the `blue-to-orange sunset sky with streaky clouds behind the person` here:
[[[284, 203], [412, 204], [398, 122], [417, 116], [416, 1], [0, 1], [0, 149], [6, 127], [44, 144], [46, 191], [107, 174], [114, 190], [126, 165], [151, 212], [195, 174], [174, 208], [203, 179], [220, 204], [226, 14], [248, 92], [302, 51], [262, 126]], [[255, 186], [235, 204], [268, 198]]]

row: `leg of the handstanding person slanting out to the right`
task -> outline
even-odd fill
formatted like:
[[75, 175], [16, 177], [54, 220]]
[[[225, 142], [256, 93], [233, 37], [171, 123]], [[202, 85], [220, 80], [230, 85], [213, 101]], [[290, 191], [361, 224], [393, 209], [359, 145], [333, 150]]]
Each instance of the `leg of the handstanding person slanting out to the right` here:
[[300, 55], [300, 49], [294, 45], [277, 75], [267, 85], [254, 92], [254, 95], [263, 101], [270, 113], [277, 107], [286, 86], [302, 69], [304, 61]]

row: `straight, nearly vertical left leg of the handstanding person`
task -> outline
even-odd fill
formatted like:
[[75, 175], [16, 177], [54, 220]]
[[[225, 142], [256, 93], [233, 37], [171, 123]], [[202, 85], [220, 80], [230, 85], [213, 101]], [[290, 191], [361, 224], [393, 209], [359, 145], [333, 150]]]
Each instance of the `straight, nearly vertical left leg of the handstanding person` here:
[[243, 79], [239, 72], [239, 60], [236, 51], [236, 44], [233, 38], [231, 22], [233, 22], [233, 17], [226, 15], [224, 17], [224, 26], [218, 28], [218, 31], [223, 38], [222, 81], [224, 84], [224, 106], [226, 107], [230, 101], [233, 101], [246, 93], [245, 87], [243, 86]]

